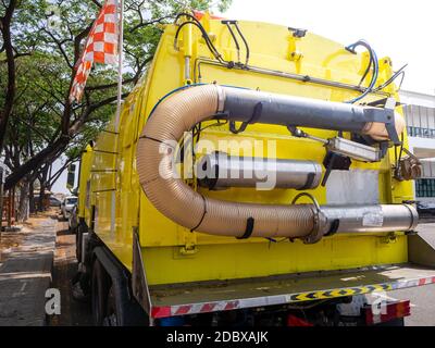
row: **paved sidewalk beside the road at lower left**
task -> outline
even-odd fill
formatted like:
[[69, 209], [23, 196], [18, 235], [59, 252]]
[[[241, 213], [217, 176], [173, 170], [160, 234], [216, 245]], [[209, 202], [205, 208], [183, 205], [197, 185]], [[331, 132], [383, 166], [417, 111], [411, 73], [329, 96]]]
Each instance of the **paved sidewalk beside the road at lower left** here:
[[0, 325], [46, 325], [46, 290], [51, 284], [55, 220], [32, 217], [0, 239]]

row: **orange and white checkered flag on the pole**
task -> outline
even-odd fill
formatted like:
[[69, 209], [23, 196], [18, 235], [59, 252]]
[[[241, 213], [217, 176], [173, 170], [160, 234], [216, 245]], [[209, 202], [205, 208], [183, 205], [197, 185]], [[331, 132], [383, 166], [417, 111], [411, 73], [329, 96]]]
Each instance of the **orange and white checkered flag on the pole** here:
[[115, 64], [120, 41], [119, 0], [107, 0], [90, 29], [85, 49], [75, 69], [70, 101], [80, 101], [94, 63]]

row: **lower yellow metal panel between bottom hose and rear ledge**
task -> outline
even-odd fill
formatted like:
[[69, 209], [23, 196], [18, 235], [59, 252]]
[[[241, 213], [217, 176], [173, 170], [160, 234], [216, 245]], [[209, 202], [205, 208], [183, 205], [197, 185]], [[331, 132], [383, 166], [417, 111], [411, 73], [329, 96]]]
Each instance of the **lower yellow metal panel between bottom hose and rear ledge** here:
[[258, 277], [400, 263], [407, 258], [406, 239], [385, 244], [382, 237], [340, 236], [314, 245], [222, 240], [198, 246], [192, 256], [183, 256], [181, 247], [145, 248], [144, 262], [150, 284]]

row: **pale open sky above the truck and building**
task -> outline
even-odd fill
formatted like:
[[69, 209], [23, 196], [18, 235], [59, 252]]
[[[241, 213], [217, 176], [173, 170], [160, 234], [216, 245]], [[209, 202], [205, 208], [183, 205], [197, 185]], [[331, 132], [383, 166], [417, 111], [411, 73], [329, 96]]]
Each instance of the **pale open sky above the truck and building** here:
[[304, 28], [344, 45], [363, 38], [395, 69], [409, 64], [403, 89], [435, 94], [435, 1], [233, 0], [223, 16]]

